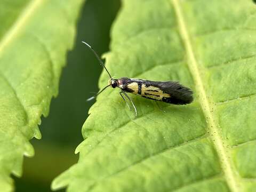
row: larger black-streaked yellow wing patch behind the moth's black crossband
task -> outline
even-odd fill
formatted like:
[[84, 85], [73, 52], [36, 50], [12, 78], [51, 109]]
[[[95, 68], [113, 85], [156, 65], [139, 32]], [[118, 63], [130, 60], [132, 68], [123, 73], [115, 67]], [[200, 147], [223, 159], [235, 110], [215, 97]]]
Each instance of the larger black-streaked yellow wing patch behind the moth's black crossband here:
[[162, 100], [163, 97], [170, 98], [170, 94], [164, 93], [158, 87], [155, 87], [155, 86], [146, 87], [146, 85], [143, 85], [143, 84], [141, 85], [141, 95], [148, 98], [156, 99], [156, 100]]

